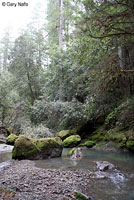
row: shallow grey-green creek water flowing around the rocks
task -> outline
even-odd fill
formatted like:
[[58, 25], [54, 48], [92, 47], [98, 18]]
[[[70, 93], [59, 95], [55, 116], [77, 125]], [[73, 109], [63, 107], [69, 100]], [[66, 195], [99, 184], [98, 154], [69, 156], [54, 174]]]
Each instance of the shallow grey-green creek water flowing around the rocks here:
[[[66, 149], [61, 158], [35, 161], [35, 166], [44, 169], [75, 170], [100, 173], [107, 178], [91, 178], [87, 185], [87, 195], [93, 200], [134, 200], [134, 154], [113, 153], [97, 150], [83, 150], [80, 161], [70, 160]], [[0, 162], [11, 159], [11, 153], [1, 153]], [[98, 172], [96, 161], [108, 161], [115, 165], [115, 170]], [[1, 163], [2, 164], [2, 163]]]

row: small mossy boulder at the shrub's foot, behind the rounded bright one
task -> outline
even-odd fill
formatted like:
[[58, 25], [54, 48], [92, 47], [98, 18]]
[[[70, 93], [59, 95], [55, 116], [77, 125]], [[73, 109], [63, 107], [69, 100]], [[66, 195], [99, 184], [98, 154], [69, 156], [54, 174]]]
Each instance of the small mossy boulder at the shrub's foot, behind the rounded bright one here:
[[62, 140], [65, 140], [67, 137], [71, 135], [76, 135], [77, 134], [77, 129], [72, 129], [72, 130], [63, 130], [57, 133], [57, 136], [60, 137]]

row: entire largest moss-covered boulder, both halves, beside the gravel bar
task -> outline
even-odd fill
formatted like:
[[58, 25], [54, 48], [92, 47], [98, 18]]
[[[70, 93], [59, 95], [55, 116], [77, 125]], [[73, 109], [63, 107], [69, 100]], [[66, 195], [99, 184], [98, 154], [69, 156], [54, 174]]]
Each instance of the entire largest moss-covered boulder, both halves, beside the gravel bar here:
[[14, 159], [44, 159], [61, 156], [63, 149], [59, 137], [30, 139], [20, 136], [14, 143], [12, 158]]

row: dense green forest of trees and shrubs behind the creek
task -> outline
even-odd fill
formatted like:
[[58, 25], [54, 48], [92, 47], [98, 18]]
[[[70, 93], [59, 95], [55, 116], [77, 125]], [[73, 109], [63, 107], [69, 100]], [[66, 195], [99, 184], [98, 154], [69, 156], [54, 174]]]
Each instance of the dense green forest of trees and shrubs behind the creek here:
[[134, 2], [49, 0], [0, 41], [0, 125], [50, 136], [84, 124], [134, 128]]

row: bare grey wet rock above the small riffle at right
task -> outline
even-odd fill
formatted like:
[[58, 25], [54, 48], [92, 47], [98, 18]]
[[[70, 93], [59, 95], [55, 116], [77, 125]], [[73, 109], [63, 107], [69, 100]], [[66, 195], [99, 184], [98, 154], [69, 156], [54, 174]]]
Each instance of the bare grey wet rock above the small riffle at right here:
[[114, 169], [114, 165], [108, 161], [98, 161], [96, 162], [97, 169], [99, 171], [106, 171], [109, 169]]

